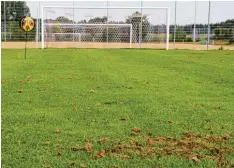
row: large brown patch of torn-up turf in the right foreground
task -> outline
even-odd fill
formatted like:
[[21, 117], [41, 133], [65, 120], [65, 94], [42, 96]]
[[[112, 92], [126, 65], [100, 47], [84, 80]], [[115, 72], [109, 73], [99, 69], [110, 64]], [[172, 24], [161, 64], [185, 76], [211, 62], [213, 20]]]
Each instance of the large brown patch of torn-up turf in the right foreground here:
[[[131, 131], [137, 133], [140, 132], [140, 129], [133, 128]], [[197, 164], [201, 162], [201, 159], [212, 159], [218, 167], [228, 167], [234, 166], [226, 159], [227, 155], [234, 153], [234, 148], [227, 144], [230, 138], [227, 134], [211, 136], [192, 133], [184, 133], [181, 139], [170, 136], [142, 136], [139, 141], [112, 144], [98, 152], [92, 150], [92, 155], [95, 159], [108, 156], [117, 156], [122, 159], [131, 159], [131, 157], [144, 159], [172, 155], [190, 159]], [[98, 142], [100, 141], [103, 140], [101, 139]]]

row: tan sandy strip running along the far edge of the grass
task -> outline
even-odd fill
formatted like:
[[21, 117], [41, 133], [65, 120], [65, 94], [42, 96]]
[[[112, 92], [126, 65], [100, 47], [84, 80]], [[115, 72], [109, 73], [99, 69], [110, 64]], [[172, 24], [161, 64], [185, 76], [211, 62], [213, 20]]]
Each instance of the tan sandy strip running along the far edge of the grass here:
[[[186, 44], [177, 42], [175, 45], [170, 43], [170, 49], [189, 49], [189, 50], [207, 50], [206, 45]], [[1, 48], [22, 49], [25, 42], [2, 42]], [[138, 43], [105, 43], [105, 42], [48, 42], [46, 48], [139, 48]], [[166, 48], [165, 43], [142, 43], [142, 48], [161, 49]], [[41, 42], [27, 42], [27, 48], [41, 48]], [[211, 45], [209, 50], [218, 50], [220, 45]], [[223, 46], [224, 50], [234, 50], [233, 45]]]

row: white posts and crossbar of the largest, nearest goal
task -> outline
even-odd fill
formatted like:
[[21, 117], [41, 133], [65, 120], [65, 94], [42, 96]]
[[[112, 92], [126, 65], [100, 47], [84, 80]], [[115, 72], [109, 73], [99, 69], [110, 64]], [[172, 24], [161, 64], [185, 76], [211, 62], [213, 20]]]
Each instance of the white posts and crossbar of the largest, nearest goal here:
[[[108, 9], [164, 9], [166, 10], [166, 50], [169, 50], [169, 36], [170, 36], [170, 8], [169, 7], [81, 7], [81, 6], [42, 6], [41, 7], [41, 18], [42, 18], [42, 25], [41, 25], [41, 48], [45, 48], [45, 39], [44, 39], [44, 9], [45, 8], [68, 8], [68, 9], [106, 9], [108, 13]], [[48, 24], [47, 24], [48, 25]], [[56, 24], [59, 25], [59, 24]], [[75, 24], [71, 24], [75, 25]], [[97, 24], [95, 24], [97, 25]], [[105, 25], [111, 25], [106, 23]], [[116, 24], [115, 24], [116, 25]], [[131, 39], [131, 38], [130, 38]], [[131, 45], [131, 44], [130, 44]]]

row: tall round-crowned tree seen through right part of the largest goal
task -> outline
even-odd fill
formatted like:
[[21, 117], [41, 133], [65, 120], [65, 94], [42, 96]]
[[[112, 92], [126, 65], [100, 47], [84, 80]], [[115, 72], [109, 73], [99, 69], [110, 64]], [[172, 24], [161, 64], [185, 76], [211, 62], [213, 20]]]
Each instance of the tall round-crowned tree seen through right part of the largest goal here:
[[[146, 37], [150, 23], [146, 15], [142, 15], [139, 12], [135, 12], [132, 15], [128, 16], [126, 23], [132, 24], [133, 29], [133, 42], [139, 41], [139, 36], [141, 33], [141, 38]], [[130, 34], [130, 32], [129, 32]]]

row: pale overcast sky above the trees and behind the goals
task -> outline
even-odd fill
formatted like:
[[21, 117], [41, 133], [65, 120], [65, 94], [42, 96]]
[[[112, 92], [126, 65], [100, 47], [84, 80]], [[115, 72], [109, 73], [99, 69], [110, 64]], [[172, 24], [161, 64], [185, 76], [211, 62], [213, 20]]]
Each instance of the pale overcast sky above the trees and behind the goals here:
[[[209, 2], [200, 1], [196, 2], [197, 4], [197, 15], [196, 22], [197, 23], [207, 23], [208, 21], [208, 7]], [[72, 6], [72, 1], [59, 1], [59, 2], [27, 2], [28, 7], [31, 11], [31, 16], [37, 18], [38, 15], [41, 14], [41, 10], [39, 10], [40, 6]], [[107, 5], [107, 1], [75, 1], [75, 6], [94, 6], [94, 7], [105, 7]], [[113, 6], [121, 6], [121, 7], [140, 7], [140, 1], [109, 1], [108, 5], [110, 7]], [[170, 23], [174, 24], [175, 17], [175, 1], [143, 1], [143, 6], [145, 7], [169, 7], [170, 8]], [[135, 12], [135, 9], [127, 9], [127, 10], [114, 10], [109, 9], [109, 20], [115, 21], [125, 21], [125, 18]], [[138, 10], [141, 12], [140, 10]], [[149, 20], [152, 23], [166, 23], [166, 12], [165, 10], [143, 10], [144, 14], [147, 14]], [[53, 8], [46, 12], [47, 18], [56, 18], [60, 15], [63, 15], [67, 18], [73, 18], [73, 10], [72, 9], [56, 9]], [[84, 9], [75, 9], [74, 16], [75, 21], [79, 21], [82, 19], [89, 20], [90, 18], [96, 16], [105, 16], [105, 9], [96, 9], [96, 10], [84, 10]], [[177, 2], [177, 24], [191, 24], [194, 23], [195, 16], [195, 2], [192, 1], [179, 1]], [[45, 17], [44, 17], [45, 18]], [[234, 19], [234, 1], [212, 1], [211, 2], [211, 23], [225, 21], [226, 19]]]

